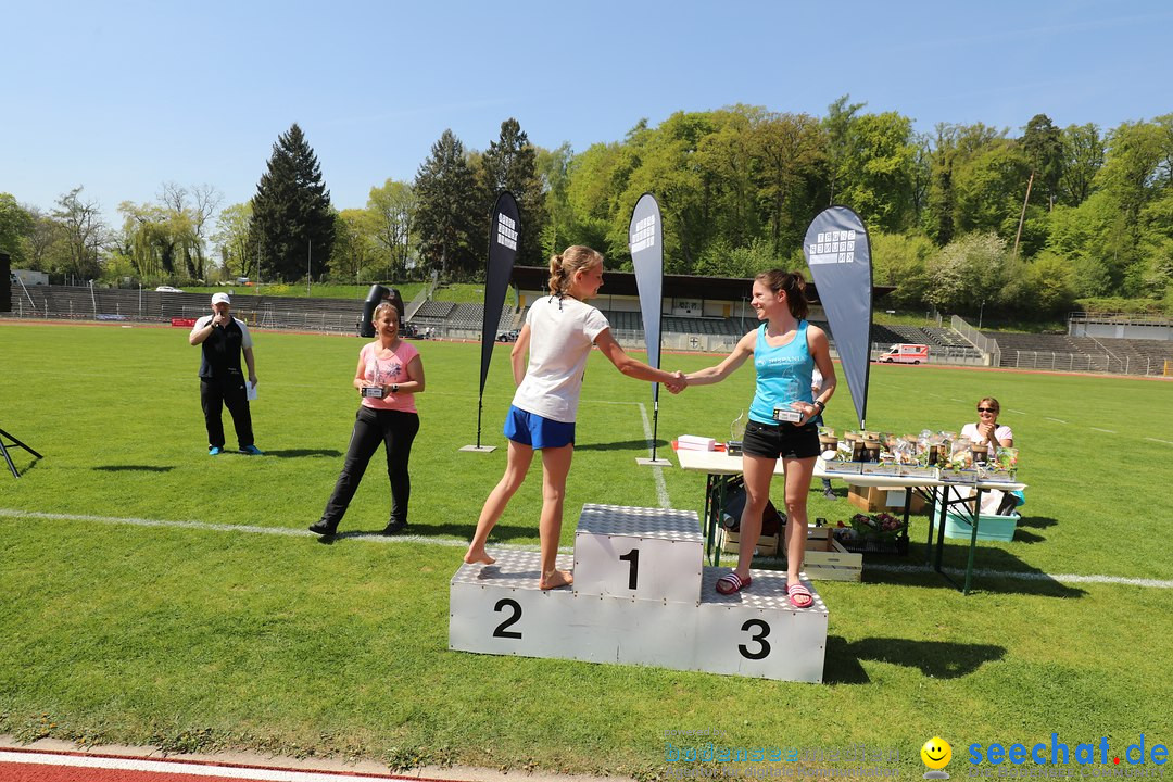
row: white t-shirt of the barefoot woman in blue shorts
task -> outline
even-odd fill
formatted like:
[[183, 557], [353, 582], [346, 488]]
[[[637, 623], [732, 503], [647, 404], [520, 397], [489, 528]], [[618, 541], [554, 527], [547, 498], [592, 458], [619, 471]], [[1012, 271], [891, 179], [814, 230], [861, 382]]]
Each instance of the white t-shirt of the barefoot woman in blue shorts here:
[[529, 366], [513, 403], [543, 419], [574, 423], [591, 345], [611, 324], [589, 304], [550, 295], [530, 306], [526, 324]]

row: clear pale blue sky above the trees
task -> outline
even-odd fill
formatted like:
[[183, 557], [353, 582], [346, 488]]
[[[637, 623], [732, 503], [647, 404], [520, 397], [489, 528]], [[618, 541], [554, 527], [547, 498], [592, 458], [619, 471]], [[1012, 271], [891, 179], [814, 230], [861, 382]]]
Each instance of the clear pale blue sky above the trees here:
[[0, 11], [0, 192], [76, 185], [108, 219], [164, 182], [248, 200], [298, 122], [338, 209], [412, 179], [440, 134], [542, 147], [747, 103], [822, 116], [850, 94], [916, 128], [1018, 134], [1173, 111], [1165, 2], [117, 2]]

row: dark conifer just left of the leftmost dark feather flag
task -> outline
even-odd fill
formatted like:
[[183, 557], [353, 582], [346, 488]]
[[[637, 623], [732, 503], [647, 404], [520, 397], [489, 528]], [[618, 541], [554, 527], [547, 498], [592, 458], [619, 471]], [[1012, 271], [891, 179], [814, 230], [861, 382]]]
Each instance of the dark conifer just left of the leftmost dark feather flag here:
[[490, 205], [480, 203], [465, 145], [452, 130], [443, 131], [415, 174], [415, 195], [420, 256], [428, 267], [445, 277], [483, 267], [483, 261], [477, 265], [475, 249], [483, 243], [480, 229], [488, 234]]

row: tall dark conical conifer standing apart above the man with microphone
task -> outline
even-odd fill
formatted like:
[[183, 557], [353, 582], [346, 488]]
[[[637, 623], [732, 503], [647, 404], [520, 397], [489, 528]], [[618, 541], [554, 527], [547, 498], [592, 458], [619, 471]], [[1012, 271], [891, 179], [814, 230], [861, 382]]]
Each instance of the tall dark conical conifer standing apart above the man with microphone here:
[[330, 191], [318, 157], [294, 122], [278, 136], [269, 170], [252, 197], [250, 244], [260, 253], [262, 276], [285, 283], [321, 278], [334, 244]]

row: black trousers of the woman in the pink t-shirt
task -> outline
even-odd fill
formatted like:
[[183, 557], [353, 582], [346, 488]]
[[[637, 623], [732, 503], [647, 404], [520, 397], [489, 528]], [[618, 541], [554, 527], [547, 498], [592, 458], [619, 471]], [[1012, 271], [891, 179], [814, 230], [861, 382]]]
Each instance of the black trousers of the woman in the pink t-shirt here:
[[343, 472], [330, 495], [321, 521], [338, 526], [359, 488], [371, 457], [382, 443], [387, 449], [387, 477], [391, 478], [391, 522], [407, 523], [407, 502], [412, 496], [412, 480], [407, 462], [412, 442], [420, 430], [420, 416], [402, 410], [375, 410], [360, 406], [354, 415], [354, 431], [346, 451]]

